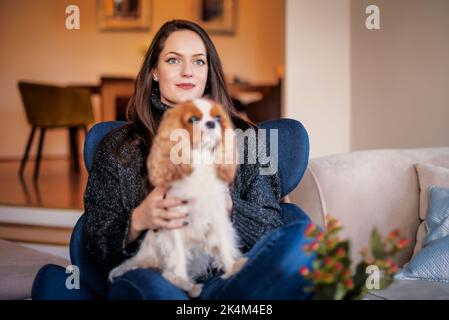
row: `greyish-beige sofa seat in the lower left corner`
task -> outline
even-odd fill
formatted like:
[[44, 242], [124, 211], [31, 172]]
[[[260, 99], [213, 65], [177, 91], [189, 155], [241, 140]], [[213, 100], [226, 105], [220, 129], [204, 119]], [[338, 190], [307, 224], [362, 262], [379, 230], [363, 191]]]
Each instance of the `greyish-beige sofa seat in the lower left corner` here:
[[27, 299], [45, 264], [69, 265], [66, 259], [0, 239], [0, 299]]

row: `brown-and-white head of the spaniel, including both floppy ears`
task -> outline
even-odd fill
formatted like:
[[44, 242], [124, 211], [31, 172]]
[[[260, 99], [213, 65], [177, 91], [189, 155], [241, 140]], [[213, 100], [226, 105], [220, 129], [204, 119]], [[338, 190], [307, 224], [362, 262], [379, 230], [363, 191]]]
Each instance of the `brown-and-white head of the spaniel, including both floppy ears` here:
[[[182, 164], [168, 159], [170, 156], [173, 158], [173, 150], [179, 144], [176, 139], [173, 139], [173, 133], [177, 129], [181, 129], [178, 131], [181, 136], [182, 133], [188, 134], [190, 150], [201, 149], [214, 152], [218, 177], [231, 182], [236, 172], [235, 136], [232, 128], [232, 122], [226, 111], [212, 100], [190, 100], [165, 111], [148, 163], [153, 185], [162, 180], [170, 182], [192, 171], [191, 158], [190, 161], [184, 161]], [[156, 167], [161, 166], [165, 166], [163, 178], [158, 173], [161, 170], [156, 170]]]

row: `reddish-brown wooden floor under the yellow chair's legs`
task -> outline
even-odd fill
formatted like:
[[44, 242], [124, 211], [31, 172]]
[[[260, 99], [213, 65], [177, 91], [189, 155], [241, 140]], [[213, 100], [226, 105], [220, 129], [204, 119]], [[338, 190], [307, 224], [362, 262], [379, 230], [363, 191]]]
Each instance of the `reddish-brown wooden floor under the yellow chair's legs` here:
[[23, 179], [19, 165], [20, 161], [0, 161], [0, 205], [83, 209], [87, 172], [82, 161], [76, 173], [68, 159], [43, 159], [36, 183], [34, 161], [28, 161]]

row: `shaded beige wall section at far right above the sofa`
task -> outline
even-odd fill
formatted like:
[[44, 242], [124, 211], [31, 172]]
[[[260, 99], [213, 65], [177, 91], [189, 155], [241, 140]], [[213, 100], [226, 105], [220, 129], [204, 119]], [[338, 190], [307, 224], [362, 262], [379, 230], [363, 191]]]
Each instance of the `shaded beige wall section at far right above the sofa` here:
[[351, 4], [351, 149], [449, 146], [449, 1]]

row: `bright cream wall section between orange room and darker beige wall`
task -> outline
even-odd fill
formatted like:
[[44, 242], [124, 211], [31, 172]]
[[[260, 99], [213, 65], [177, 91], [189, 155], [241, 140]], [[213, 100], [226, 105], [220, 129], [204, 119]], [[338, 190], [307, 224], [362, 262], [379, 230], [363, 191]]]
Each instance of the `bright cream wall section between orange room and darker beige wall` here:
[[350, 1], [287, 0], [287, 117], [309, 133], [310, 155], [350, 150]]

